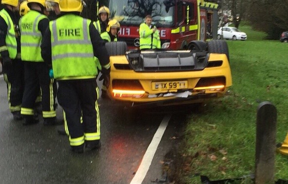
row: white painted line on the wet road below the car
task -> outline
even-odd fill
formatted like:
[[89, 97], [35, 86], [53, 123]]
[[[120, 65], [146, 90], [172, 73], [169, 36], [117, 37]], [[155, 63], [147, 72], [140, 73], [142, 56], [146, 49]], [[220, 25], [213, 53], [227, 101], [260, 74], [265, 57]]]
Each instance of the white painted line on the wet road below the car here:
[[146, 174], [147, 174], [147, 171], [151, 165], [151, 162], [153, 160], [153, 157], [154, 157], [154, 154], [157, 150], [157, 147], [162, 139], [162, 136], [166, 130], [166, 127], [168, 125], [168, 122], [171, 118], [171, 115], [166, 115], [158, 130], [156, 131], [156, 133], [154, 134], [154, 137], [150, 143], [150, 145], [148, 146], [144, 156], [143, 156], [143, 159], [142, 159], [142, 162], [135, 174], [135, 176], [133, 177], [132, 181], [130, 184], [142, 184]]

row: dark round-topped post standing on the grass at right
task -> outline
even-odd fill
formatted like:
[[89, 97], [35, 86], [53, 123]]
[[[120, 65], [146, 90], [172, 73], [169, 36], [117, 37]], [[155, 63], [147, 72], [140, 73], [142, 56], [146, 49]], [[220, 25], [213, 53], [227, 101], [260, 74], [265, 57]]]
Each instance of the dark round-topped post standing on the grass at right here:
[[258, 105], [256, 120], [255, 184], [274, 182], [277, 110], [272, 103]]

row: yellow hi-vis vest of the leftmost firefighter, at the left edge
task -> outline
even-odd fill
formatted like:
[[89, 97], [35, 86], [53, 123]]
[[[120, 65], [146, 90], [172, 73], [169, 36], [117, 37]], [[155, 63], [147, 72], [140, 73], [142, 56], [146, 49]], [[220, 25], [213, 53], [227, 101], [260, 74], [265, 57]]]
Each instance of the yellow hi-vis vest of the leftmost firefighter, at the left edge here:
[[1, 51], [8, 50], [10, 58], [15, 59], [17, 55], [17, 41], [14, 23], [6, 10], [2, 9], [0, 11], [0, 16], [5, 20], [8, 26], [5, 39], [6, 46], [1, 47]]

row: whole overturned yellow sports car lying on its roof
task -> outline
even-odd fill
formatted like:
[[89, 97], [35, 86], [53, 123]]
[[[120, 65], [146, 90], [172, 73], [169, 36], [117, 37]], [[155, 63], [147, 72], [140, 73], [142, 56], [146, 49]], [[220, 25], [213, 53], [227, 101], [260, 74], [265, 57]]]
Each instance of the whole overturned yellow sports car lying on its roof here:
[[110, 42], [108, 95], [129, 106], [203, 102], [232, 85], [227, 43], [195, 41], [192, 50], [127, 50]]

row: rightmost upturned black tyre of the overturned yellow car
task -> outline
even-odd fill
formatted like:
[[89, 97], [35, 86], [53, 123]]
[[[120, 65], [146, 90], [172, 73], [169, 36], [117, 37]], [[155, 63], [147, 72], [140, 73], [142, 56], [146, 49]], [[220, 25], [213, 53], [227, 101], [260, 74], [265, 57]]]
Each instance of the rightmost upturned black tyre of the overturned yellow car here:
[[210, 53], [222, 53], [226, 54], [228, 61], [230, 62], [229, 50], [226, 41], [224, 40], [211, 40], [207, 42], [208, 52]]

